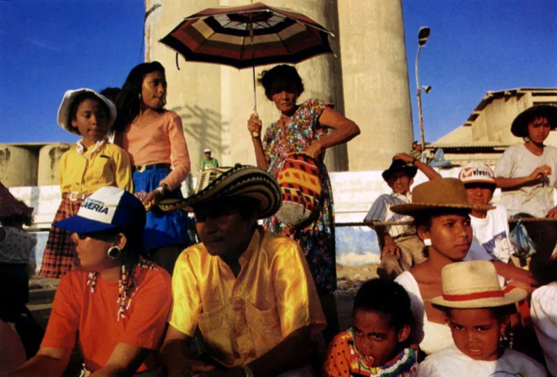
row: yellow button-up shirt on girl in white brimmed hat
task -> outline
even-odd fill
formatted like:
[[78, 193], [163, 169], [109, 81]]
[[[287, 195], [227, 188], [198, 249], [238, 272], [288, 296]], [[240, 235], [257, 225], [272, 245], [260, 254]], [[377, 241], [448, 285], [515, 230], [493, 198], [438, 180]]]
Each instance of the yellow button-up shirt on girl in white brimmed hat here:
[[134, 192], [130, 157], [114, 144], [97, 144], [82, 154], [77, 145], [72, 146], [60, 159], [58, 176], [62, 193], [90, 195], [104, 186]]

